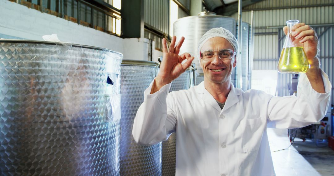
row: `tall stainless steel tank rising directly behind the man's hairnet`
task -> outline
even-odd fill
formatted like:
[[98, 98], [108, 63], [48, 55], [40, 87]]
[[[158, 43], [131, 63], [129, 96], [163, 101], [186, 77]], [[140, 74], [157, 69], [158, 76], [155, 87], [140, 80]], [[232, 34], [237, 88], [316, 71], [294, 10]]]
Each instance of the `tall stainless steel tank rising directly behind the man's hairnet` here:
[[187, 52], [195, 57], [194, 62], [198, 73], [203, 73], [197, 57], [199, 55], [197, 53], [198, 42], [208, 30], [215, 27], [223, 27], [234, 36], [236, 35], [236, 20], [232, 17], [216, 15], [213, 12], [201, 12], [198, 16], [183, 17], [173, 24], [173, 34], [177, 39], [180, 39], [181, 36], [185, 37], [180, 54]]

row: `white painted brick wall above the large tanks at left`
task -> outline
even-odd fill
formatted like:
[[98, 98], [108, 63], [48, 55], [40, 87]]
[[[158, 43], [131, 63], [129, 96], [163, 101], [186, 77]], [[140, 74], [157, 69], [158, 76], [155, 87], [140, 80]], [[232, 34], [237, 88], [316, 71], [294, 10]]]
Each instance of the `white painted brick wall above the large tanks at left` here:
[[[57, 34], [63, 42], [121, 52], [123, 59], [149, 60], [149, 39], [122, 39], [8, 0], [0, 0], [0, 38], [43, 41], [42, 36], [50, 34]], [[152, 48], [155, 48], [154, 42]], [[155, 49], [152, 53], [153, 58], [162, 55]]]

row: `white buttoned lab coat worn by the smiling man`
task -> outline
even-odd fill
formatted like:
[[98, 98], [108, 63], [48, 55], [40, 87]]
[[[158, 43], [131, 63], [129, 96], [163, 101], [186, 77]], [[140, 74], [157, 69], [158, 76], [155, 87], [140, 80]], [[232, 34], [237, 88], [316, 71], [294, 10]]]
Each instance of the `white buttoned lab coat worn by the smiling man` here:
[[312, 89], [305, 74], [300, 75], [298, 97], [232, 86], [222, 110], [203, 82], [171, 93], [168, 84], [154, 94], [151, 84], [132, 134], [137, 143], [153, 145], [176, 132], [176, 176], [272, 176], [266, 128], [298, 128], [322, 119], [331, 91], [328, 76], [322, 75], [324, 94]]

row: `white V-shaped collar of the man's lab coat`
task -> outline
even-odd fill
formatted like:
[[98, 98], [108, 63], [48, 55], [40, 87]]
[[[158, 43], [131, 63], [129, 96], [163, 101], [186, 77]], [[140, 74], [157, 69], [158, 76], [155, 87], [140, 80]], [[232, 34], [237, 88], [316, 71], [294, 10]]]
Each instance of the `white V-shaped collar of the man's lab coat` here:
[[[202, 81], [198, 86], [195, 87], [196, 92], [198, 94], [201, 94], [202, 100], [205, 103], [210, 104], [212, 107], [214, 107], [216, 110], [219, 112], [221, 111], [217, 101], [213, 98], [213, 96], [205, 89], [204, 87], [204, 81]], [[228, 93], [225, 105], [223, 110], [230, 108], [233, 106], [235, 103], [239, 101], [238, 96], [241, 94], [241, 90], [234, 88], [234, 85], [231, 83], [231, 90]]]

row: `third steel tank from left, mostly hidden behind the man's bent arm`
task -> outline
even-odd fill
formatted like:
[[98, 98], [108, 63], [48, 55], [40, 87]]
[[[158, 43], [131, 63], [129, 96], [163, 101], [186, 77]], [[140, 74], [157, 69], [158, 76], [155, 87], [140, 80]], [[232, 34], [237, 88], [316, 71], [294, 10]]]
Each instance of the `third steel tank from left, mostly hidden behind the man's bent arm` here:
[[[169, 92], [189, 89], [193, 69], [188, 68], [178, 78], [176, 78], [170, 87]], [[162, 176], [175, 175], [176, 160], [176, 135], [171, 134], [167, 141], [162, 142]]]

